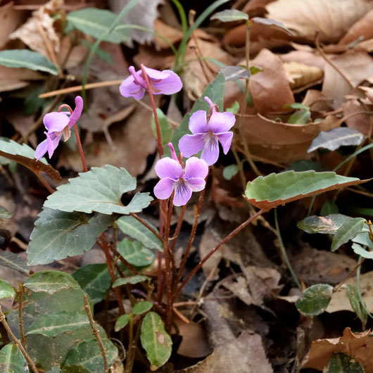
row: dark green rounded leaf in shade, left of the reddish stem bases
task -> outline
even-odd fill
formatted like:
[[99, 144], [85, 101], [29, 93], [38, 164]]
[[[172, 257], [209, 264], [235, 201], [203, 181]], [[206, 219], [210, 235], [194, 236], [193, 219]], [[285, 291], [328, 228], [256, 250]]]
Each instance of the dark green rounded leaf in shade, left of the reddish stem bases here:
[[91, 297], [96, 304], [103, 300], [111, 285], [110, 274], [106, 264], [88, 264], [72, 272], [80, 287]]

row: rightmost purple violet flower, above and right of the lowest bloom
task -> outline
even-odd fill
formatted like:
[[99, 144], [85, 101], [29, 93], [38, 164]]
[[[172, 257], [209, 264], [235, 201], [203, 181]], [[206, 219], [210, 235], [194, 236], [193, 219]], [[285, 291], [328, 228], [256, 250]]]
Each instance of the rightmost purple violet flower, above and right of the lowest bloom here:
[[232, 144], [233, 132], [229, 132], [236, 122], [234, 114], [225, 111], [218, 113], [216, 105], [208, 97], [205, 100], [210, 104], [211, 114], [207, 119], [205, 110], [197, 110], [189, 119], [189, 129], [192, 134], [185, 134], [179, 140], [179, 150], [184, 157], [190, 157], [202, 151], [201, 159], [206, 160], [210, 166], [219, 158], [219, 142], [223, 152], [228, 153]]

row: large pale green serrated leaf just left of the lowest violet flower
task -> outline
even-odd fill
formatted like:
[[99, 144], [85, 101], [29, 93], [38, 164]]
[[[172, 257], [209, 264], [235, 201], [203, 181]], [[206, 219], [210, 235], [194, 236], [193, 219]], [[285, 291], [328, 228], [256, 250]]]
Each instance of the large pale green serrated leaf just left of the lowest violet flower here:
[[123, 206], [120, 201], [122, 194], [135, 188], [136, 179], [124, 168], [111, 165], [92, 167], [90, 171], [81, 172], [78, 177], [69, 179], [68, 184], [58, 187], [47, 198], [44, 207], [67, 213], [139, 213], [153, 201], [148, 193], [135, 194], [127, 206]]

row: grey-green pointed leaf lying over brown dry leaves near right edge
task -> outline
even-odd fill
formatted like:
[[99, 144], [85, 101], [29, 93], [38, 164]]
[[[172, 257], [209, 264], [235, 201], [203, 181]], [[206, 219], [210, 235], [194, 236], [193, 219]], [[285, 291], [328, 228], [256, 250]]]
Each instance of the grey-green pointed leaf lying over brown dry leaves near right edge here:
[[312, 140], [308, 148], [308, 153], [318, 148], [334, 151], [341, 146], [360, 145], [365, 136], [356, 129], [349, 127], [333, 128], [330, 131], [321, 131], [320, 134]]

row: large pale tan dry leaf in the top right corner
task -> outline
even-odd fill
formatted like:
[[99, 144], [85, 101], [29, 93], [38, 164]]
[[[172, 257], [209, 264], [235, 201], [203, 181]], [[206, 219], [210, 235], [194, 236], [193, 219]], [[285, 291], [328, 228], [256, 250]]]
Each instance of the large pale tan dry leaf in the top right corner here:
[[266, 6], [268, 18], [284, 23], [298, 37], [338, 42], [347, 30], [373, 8], [369, 0], [277, 0]]

